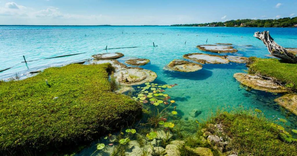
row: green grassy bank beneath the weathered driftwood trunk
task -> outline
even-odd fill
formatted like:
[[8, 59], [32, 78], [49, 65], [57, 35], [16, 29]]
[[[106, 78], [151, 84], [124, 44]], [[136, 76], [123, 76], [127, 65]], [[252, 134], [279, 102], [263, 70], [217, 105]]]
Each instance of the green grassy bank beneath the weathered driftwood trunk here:
[[297, 89], [297, 64], [283, 63], [275, 58], [249, 58], [249, 73], [271, 77], [287, 84], [286, 87]]

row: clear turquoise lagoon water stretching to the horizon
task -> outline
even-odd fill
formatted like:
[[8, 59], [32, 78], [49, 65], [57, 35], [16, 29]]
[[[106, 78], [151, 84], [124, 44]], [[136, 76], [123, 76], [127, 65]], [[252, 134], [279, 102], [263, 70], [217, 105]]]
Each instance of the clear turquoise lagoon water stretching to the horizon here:
[[[182, 56], [187, 53], [216, 54], [196, 48], [197, 45], [206, 44], [206, 40], [207, 44], [232, 43], [238, 52], [229, 55], [268, 58], [265, 55], [269, 52], [263, 42], [253, 37], [256, 31], [264, 30], [270, 31], [275, 41], [283, 47], [297, 47], [297, 28], [4, 26], [0, 27], [0, 70], [12, 68], [0, 72], [0, 79], [8, 79], [15, 73], [26, 78], [30, 71], [88, 60], [94, 54], [121, 52], [125, 55], [118, 59], [122, 63], [130, 58], [151, 60], [141, 67], [157, 73], [158, 78], [153, 83], [178, 84], [167, 89], [166, 94], [176, 101], [177, 112], [182, 119], [187, 120], [193, 109], [202, 111], [197, 120], [203, 121], [217, 108], [242, 106], [260, 109], [272, 120], [277, 117], [287, 119], [287, 125], [295, 128], [296, 117], [287, 114], [273, 101], [281, 94], [247, 91], [236, 82], [233, 74], [246, 72], [245, 64], [206, 64], [202, 70], [192, 73], [163, 70], [170, 61], [183, 59]], [[153, 42], [157, 47], [153, 47]], [[105, 50], [106, 46], [136, 48]], [[39, 60], [76, 53], [83, 54]], [[39, 61], [21, 63], [23, 55], [27, 61]]]

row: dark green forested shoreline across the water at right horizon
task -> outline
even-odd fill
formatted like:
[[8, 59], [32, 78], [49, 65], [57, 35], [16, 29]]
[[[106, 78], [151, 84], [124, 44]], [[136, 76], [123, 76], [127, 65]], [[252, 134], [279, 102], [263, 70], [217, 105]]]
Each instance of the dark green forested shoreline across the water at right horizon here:
[[201, 24], [175, 24], [171, 26], [210, 26], [210, 27], [297, 27], [297, 17], [286, 17], [279, 19], [252, 20], [238, 19], [226, 22], [212, 22]]

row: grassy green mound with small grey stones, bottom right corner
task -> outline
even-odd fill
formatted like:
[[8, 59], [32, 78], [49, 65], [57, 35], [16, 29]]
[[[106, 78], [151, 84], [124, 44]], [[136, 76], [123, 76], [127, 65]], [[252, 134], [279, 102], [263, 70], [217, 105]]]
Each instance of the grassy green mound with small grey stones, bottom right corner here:
[[[207, 126], [217, 124], [221, 124], [221, 130]], [[232, 140], [226, 150], [238, 155], [297, 155], [296, 144], [280, 140], [277, 127], [251, 111], [218, 112], [204, 128], [214, 135], [228, 135]]]

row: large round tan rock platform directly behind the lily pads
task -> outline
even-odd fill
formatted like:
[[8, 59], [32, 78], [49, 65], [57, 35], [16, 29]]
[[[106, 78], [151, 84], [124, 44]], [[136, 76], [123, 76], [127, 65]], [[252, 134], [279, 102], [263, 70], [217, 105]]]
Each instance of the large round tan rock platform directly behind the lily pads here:
[[128, 67], [115, 72], [113, 77], [121, 85], [132, 86], [152, 82], [157, 78], [157, 74], [147, 69]]

